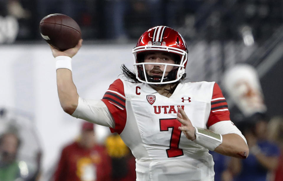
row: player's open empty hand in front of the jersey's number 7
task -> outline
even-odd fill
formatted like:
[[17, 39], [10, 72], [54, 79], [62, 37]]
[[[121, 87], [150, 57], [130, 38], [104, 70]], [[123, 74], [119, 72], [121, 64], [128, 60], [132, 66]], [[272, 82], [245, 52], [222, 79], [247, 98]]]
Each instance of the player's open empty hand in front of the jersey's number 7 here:
[[181, 126], [178, 127], [178, 129], [185, 134], [187, 139], [192, 141], [195, 140], [195, 128], [192, 126], [192, 122], [181, 107], [178, 107], [177, 120], [181, 123]]

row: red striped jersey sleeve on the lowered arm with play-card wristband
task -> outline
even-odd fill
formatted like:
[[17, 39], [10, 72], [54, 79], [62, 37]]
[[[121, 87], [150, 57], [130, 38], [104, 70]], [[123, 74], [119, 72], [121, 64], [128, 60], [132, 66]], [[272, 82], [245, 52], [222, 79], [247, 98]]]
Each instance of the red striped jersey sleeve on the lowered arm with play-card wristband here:
[[222, 94], [222, 91], [218, 84], [215, 82], [213, 86], [213, 93], [211, 98], [211, 108], [210, 114], [208, 117], [207, 127], [220, 122], [220, 121], [229, 121], [230, 112], [228, 110], [228, 104], [225, 97]]

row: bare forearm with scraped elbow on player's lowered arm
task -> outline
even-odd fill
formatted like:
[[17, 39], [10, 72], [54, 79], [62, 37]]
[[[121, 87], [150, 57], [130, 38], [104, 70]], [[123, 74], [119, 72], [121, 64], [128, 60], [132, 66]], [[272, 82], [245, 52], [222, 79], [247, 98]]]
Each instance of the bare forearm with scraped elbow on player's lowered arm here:
[[222, 137], [223, 141], [215, 148], [215, 152], [237, 158], [248, 157], [249, 147], [238, 134], [224, 134]]

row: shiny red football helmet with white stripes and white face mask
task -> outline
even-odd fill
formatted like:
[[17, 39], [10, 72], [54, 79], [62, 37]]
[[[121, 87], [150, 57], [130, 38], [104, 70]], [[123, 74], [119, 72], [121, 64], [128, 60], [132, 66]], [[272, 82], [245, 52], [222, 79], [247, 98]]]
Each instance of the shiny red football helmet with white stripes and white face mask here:
[[[173, 53], [177, 59], [175, 64], [167, 63], [144, 63], [142, 52], [148, 51], [163, 51]], [[134, 73], [136, 78], [140, 82], [147, 84], [168, 84], [177, 82], [185, 74], [185, 68], [187, 64], [187, 45], [182, 36], [174, 29], [167, 26], [153, 27], [139, 38], [136, 47], [133, 49], [134, 54]], [[180, 57], [180, 59], [179, 59]], [[159, 64], [164, 65], [163, 75], [160, 77], [149, 76], [145, 71], [145, 64]], [[175, 66], [177, 68], [165, 75], [165, 70], [168, 65]]]

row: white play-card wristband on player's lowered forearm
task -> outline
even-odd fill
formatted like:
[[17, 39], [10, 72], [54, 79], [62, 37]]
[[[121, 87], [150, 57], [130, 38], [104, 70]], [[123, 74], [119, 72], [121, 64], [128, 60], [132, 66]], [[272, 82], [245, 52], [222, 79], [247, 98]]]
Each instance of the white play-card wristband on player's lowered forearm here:
[[196, 139], [193, 141], [196, 144], [207, 148], [210, 151], [215, 150], [222, 143], [222, 135], [217, 134], [208, 129], [203, 129], [199, 127], [195, 128], [195, 137]]

